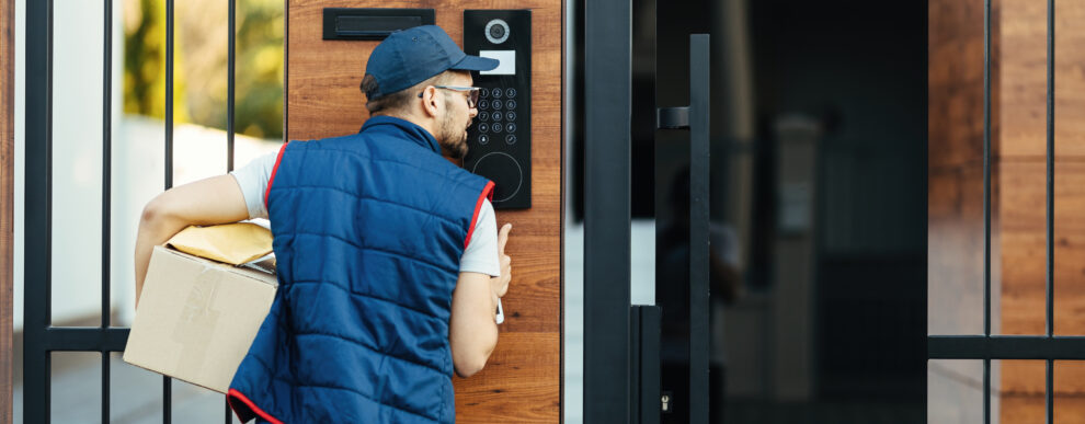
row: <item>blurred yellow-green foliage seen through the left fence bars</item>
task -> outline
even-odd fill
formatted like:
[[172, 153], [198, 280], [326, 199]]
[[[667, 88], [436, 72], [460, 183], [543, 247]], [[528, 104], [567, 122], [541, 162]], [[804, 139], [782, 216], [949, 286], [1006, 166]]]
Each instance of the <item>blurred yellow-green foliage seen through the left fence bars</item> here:
[[[165, 116], [165, 1], [125, 0], [124, 111]], [[226, 129], [225, 0], [176, 1], [173, 119]], [[284, 2], [237, 1], [235, 130], [283, 137]]]

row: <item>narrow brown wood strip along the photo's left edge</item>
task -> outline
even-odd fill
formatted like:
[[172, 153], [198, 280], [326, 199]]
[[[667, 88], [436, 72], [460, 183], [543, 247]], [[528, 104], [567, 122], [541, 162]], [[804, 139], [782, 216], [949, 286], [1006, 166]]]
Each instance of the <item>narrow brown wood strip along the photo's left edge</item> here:
[[12, 420], [15, 193], [15, 2], [0, 0], [0, 424]]

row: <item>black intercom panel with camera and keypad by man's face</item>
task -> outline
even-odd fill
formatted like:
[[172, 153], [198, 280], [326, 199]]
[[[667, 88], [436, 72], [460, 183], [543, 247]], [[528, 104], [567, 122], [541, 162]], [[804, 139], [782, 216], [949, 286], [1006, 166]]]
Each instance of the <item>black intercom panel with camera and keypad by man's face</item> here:
[[464, 51], [498, 59], [475, 76], [478, 116], [464, 168], [494, 182], [493, 207], [532, 207], [532, 12], [464, 11]]

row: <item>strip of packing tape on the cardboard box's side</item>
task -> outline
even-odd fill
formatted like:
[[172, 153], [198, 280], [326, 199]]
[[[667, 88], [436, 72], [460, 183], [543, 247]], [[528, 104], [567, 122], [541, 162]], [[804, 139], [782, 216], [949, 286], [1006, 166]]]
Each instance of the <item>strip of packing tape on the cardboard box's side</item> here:
[[215, 296], [222, 277], [205, 265], [185, 297], [181, 318], [173, 328], [173, 341], [181, 344], [181, 356], [174, 367], [179, 374], [196, 375], [207, 359], [207, 348], [213, 343], [213, 334], [207, 329], [218, 328], [221, 316], [215, 308]]

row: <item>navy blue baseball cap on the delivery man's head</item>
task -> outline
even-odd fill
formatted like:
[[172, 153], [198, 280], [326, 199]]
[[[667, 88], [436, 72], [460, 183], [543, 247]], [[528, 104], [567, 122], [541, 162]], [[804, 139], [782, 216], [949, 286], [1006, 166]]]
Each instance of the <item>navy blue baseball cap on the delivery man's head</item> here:
[[365, 73], [377, 80], [377, 99], [413, 87], [449, 69], [481, 71], [498, 67], [496, 59], [470, 56], [439, 26], [397, 31], [373, 49]]

